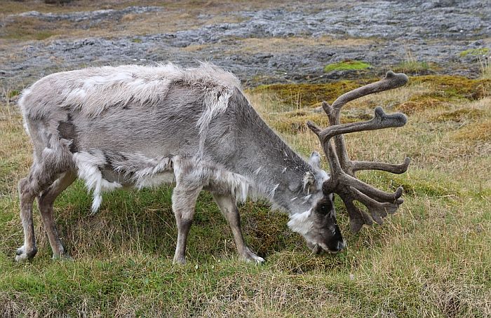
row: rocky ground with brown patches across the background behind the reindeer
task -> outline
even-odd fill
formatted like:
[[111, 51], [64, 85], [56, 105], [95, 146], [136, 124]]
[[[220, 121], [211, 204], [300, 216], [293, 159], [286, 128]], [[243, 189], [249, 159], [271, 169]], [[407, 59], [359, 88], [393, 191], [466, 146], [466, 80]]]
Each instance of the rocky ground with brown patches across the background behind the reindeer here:
[[[208, 4], [194, 8], [193, 14], [187, 14], [187, 7], [165, 5], [58, 13], [26, 7], [1, 16], [0, 83], [18, 88], [62, 69], [167, 61], [210, 61], [248, 85], [361, 75], [323, 70], [344, 60], [370, 63], [365, 76], [409, 61], [424, 63], [419, 73], [475, 78], [479, 59], [485, 58], [481, 55], [491, 47], [490, 8], [485, 0], [291, 2], [253, 10]], [[32, 21], [41, 29], [48, 26], [46, 39], [9, 34], [15, 24]], [[135, 21], [147, 23], [147, 29], [135, 31]], [[463, 53], [469, 49], [483, 54]]]

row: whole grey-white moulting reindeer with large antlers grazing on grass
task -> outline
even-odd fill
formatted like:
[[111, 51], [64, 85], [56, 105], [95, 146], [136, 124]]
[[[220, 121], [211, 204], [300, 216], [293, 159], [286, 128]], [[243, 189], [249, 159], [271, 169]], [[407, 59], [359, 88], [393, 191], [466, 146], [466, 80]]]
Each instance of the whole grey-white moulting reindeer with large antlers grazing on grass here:
[[[36, 254], [32, 205], [37, 199], [53, 257], [64, 257], [53, 220], [53, 202], [77, 178], [93, 191], [92, 213], [103, 191], [123, 186], [175, 184], [177, 221], [174, 262], [184, 263], [186, 240], [201, 190], [210, 191], [245, 261], [264, 261], [245, 245], [236, 202], [248, 195], [267, 198], [290, 215], [288, 226], [314, 252], [346, 247], [336, 223], [333, 193], [347, 205], [351, 229], [382, 223], [402, 203], [401, 189], [389, 194], [354, 178], [362, 169], [401, 173], [408, 167], [351, 162], [342, 134], [398, 127], [405, 116], [375, 110], [365, 123], [339, 124], [339, 109], [351, 99], [403, 85], [407, 77], [389, 72], [382, 81], [349, 92], [328, 106], [331, 127], [309, 123], [323, 142], [331, 174], [320, 156], [300, 158], [257, 115], [235, 76], [210, 64], [181, 69], [128, 65], [66, 71], [41, 78], [22, 92], [25, 130], [34, 144], [34, 162], [19, 182], [25, 242], [17, 261]], [[330, 138], [335, 137], [335, 149]], [[363, 202], [371, 215], [353, 204]]]

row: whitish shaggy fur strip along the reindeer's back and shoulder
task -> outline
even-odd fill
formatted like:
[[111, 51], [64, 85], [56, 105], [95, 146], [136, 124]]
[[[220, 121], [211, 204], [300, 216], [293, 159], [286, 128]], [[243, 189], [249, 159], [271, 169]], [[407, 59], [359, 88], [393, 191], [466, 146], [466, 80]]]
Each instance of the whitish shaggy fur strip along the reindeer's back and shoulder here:
[[[233, 74], [208, 63], [191, 69], [182, 69], [172, 63], [154, 67], [91, 67], [42, 78], [22, 93], [19, 104], [21, 107], [27, 105], [27, 102], [54, 104], [79, 110], [94, 118], [114, 105], [159, 104], [175, 84], [189, 85], [206, 92], [204, 102], [208, 112], [199, 121], [200, 127], [208, 125], [209, 120], [227, 106], [233, 88], [240, 87], [240, 82]], [[50, 85], [55, 91], [42, 92], [45, 85]], [[32, 95], [32, 91], [36, 91], [36, 94]]]

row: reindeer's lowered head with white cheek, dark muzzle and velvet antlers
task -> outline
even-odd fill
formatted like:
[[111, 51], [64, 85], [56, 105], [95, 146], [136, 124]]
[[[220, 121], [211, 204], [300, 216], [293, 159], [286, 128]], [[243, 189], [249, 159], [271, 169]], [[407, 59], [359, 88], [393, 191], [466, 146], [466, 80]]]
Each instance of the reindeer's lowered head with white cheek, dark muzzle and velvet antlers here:
[[[330, 176], [323, 181], [322, 195], [314, 203], [313, 208], [292, 217], [288, 225], [292, 230], [305, 237], [307, 245], [315, 253], [321, 250], [337, 252], [345, 247], [344, 239], [336, 222], [333, 193], [339, 195], [344, 202], [349, 215], [350, 229], [354, 233], [358, 232], [363, 224], [372, 225], [373, 221], [382, 224], [383, 218], [387, 214], [394, 214], [398, 206], [403, 203], [401, 198], [402, 187], [399, 187], [395, 193], [386, 193], [356, 179], [355, 172], [358, 170], [383, 170], [401, 174], [408, 169], [410, 159], [405, 158], [404, 163], [401, 165], [351, 161], [348, 157], [343, 134], [401, 127], [407, 121], [406, 116], [403, 113], [387, 115], [378, 106], [375, 108], [375, 117], [372, 120], [341, 124], [339, 113], [342, 106], [351, 100], [375, 92], [398, 88], [407, 82], [408, 76], [405, 76], [405, 74], [394, 74], [389, 71], [381, 81], [347, 92], [338, 97], [332, 105], [323, 102], [322, 106], [328, 115], [330, 127], [321, 129], [310, 121], [307, 123], [321, 141], [324, 153], [329, 160]], [[334, 137], [335, 146], [332, 146], [332, 137]], [[368, 212], [356, 207], [355, 200], [365, 205]]]

